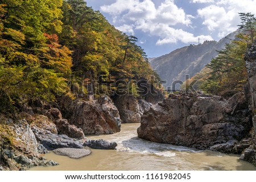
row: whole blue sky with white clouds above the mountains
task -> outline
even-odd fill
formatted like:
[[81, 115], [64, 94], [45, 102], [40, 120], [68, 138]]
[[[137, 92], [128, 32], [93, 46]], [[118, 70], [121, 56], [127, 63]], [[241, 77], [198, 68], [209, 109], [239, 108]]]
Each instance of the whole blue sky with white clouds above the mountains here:
[[148, 57], [220, 40], [237, 29], [238, 12], [256, 14], [256, 0], [86, 0], [117, 29], [138, 37]]

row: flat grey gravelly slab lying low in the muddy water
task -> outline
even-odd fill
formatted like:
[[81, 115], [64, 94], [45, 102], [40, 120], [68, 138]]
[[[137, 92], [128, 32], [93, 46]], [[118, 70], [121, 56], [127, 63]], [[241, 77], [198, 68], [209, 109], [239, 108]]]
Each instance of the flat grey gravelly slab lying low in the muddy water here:
[[53, 152], [57, 155], [65, 155], [69, 156], [70, 158], [79, 159], [83, 156], [90, 155], [92, 151], [88, 149], [72, 149], [72, 148], [61, 148], [61, 149], [55, 149]]

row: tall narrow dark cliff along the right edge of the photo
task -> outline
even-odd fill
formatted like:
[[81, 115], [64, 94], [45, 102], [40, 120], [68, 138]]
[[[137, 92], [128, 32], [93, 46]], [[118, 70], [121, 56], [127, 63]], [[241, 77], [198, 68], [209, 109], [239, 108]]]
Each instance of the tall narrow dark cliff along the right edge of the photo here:
[[251, 45], [245, 54], [246, 68], [248, 72], [248, 98], [252, 112], [253, 130], [252, 143], [241, 155], [241, 159], [253, 163], [256, 166], [256, 42]]

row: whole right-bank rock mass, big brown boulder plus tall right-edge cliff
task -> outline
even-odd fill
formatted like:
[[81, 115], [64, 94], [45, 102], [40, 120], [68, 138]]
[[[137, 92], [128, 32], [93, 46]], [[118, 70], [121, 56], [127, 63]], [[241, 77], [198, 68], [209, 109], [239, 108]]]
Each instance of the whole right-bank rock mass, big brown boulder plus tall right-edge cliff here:
[[229, 100], [218, 96], [170, 95], [141, 118], [138, 136], [171, 143], [242, 154], [256, 165], [256, 43], [245, 54], [245, 93]]

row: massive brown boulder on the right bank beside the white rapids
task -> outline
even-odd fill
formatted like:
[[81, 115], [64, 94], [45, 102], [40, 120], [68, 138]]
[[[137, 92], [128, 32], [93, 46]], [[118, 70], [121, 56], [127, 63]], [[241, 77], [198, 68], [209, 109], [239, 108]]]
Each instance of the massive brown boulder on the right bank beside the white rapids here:
[[228, 101], [218, 96], [166, 99], [144, 113], [138, 137], [197, 149], [239, 141], [249, 133], [250, 113], [242, 107], [246, 104], [241, 94], [233, 97]]

